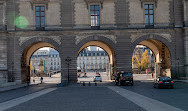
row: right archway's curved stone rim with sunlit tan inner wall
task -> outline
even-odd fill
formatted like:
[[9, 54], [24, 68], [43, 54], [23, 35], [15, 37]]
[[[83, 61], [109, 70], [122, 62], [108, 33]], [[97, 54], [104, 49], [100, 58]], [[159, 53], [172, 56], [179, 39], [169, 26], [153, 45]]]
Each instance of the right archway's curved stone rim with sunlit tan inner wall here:
[[[134, 43], [136, 45], [144, 45], [152, 50], [155, 55], [155, 77], [157, 76], [168, 76], [171, 75], [171, 54], [172, 49], [171, 43], [160, 36], [143, 36], [138, 38]], [[167, 45], [166, 45], [167, 44]], [[170, 48], [169, 48], [170, 47]]]

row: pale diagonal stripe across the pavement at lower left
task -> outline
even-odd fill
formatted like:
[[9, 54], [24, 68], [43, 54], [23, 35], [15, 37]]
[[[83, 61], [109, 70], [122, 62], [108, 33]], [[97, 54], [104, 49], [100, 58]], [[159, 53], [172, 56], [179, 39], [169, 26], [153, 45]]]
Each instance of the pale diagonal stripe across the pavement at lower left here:
[[24, 102], [27, 102], [31, 99], [42, 96], [42, 95], [47, 94], [49, 92], [52, 92], [56, 89], [57, 88], [48, 88], [48, 89], [44, 89], [44, 90], [39, 91], [39, 92], [35, 92], [35, 93], [29, 94], [29, 95], [26, 95], [26, 96], [22, 96], [22, 97], [19, 97], [19, 98], [16, 98], [16, 99], [12, 99], [10, 101], [0, 103], [0, 111], [4, 111], [4, 110], [9, 109], [11, 107], [17, 106], [21, 103], [24, 103]]

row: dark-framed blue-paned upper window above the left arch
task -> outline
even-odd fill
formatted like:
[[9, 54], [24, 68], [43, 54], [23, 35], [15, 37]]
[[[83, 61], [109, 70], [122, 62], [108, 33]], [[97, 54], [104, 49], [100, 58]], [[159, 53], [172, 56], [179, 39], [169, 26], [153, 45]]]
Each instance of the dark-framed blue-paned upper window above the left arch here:
[[44, 6], [35, 7], [35, 20], [36, 20], [36, 29], [44, 30], [45, 29], [45, 7]]

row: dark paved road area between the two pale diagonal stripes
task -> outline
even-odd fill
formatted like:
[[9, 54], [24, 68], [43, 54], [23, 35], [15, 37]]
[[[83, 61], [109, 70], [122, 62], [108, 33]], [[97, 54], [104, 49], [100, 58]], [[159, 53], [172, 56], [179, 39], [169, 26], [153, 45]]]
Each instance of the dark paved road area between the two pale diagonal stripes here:
[[65, 87], [7, 111], [144, 111], [107, 87]]

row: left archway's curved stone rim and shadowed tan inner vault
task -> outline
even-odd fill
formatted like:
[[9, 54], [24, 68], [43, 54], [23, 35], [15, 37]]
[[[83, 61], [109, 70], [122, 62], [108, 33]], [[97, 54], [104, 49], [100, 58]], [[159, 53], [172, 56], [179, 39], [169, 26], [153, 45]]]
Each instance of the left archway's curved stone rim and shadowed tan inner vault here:
[[[30, 58], [32, 54], [40, 48], [51, 47], [58, 52], [60, 51], [57, 43], [49, 38], [42, 38], [38, 41], [37, 38], [32, 38], [21, 45], [21, 82], [25, 83], [30, 76]], [[57, 49], [58, 48], [58, 49]], [[61, 53], [60, 53], [61, 54]], [[61, 57], [61, 56], [60, 56]]]

